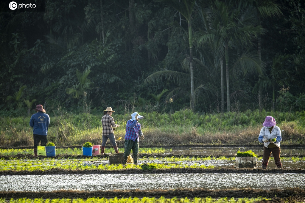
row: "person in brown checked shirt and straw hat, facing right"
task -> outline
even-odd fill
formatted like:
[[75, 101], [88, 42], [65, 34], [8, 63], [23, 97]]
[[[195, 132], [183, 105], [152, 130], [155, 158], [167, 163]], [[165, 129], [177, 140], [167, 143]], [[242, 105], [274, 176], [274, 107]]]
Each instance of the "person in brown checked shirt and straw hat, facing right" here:
[[104, 116], [102, 117], [102, 126], [103, 126], [103, 132], [102, 132], [102, 146], [101, 146], [101, 154], [104, 154], [104, 150], [106, 147], [106, 143], [108, 141], [108, 138], [110, 142], [112, 143], [113, 149], [116, 153], [119, 153], [119, 149], [117, 149], [117, 142], [114, 137], [113, 131], [114, 128], [119, 127], [119, 125], [114, 123], [111, 107], [107, 107], [106, 110], [104, 110]]

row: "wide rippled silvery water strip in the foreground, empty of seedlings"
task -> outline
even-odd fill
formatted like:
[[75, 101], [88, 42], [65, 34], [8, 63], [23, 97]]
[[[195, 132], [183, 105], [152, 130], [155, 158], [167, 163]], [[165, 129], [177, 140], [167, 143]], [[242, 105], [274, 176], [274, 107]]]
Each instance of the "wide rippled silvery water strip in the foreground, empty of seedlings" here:
[[[305, 174], [99, 174], [2, 176], [0, 191], [126, 190], [175, 188], [305, 189]], [[135, 181], [137, 180], [137, 181]]]

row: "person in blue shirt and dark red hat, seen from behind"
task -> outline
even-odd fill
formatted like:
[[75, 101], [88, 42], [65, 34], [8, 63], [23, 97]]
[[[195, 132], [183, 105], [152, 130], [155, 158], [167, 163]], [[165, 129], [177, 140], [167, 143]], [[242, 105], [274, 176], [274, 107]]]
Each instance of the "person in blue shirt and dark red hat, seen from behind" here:
[[50, 117], [45, 113], [43, 106], [38, 104], [35, 110], [37, 113], [31, 116], [30, 126], [33, 128], [34, 137], [34, 156], [37, 156], [37, 145], [39, 142], [41, 146], [45, 146], [48, 142], [48, 127], [50, 124]]

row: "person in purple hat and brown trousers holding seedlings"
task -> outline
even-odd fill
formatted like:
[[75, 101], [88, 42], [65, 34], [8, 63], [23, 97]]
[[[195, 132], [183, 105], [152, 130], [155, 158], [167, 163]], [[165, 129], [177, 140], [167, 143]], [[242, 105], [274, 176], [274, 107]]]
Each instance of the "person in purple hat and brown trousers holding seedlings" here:
[[260, 135], [258, 136], [258, 141], [264, 143], [262, 168], [267, 168], [271, 152], [274, 157], [275, 165], [278, 168], [282, 168], [282, 163], [280, 159], [280, 142], [282, 141], [281, 130], [278, 126], [276, 126], [275, 119], [272, 116], [266, 117], [263, 126], [264, 127], [260, 130]]

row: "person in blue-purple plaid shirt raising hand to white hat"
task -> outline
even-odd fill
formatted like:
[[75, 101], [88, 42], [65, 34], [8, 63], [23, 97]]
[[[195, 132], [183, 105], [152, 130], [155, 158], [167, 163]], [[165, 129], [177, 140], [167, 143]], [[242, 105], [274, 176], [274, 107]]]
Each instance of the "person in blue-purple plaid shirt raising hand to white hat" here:
[[131, 114], [131, 119], [126, 123], [126, 134], [124, 142], [124, 164], [127, 163], [127, 158], [131, 152], [133, 154], [134, 164], [138, 164], [138, 151], [139, 151], [139, 136], [144, 139], [141, 130], [141, 124], [138, 123], [139, 119], [144, 118], [137, 112]]

